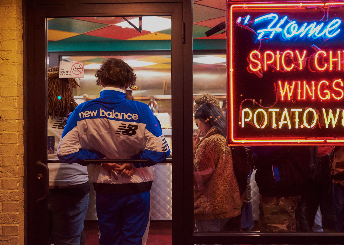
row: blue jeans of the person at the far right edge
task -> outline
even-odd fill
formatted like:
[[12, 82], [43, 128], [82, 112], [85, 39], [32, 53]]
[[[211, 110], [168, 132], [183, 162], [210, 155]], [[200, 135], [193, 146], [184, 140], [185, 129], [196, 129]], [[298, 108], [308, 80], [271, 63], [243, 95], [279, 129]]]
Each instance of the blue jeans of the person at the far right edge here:
[[344, 216], [344, 186], [341, 184], [333, 184], [333, 206], [336, 214], [336, 230], [337, 232], [344, 231], [343, 216]]

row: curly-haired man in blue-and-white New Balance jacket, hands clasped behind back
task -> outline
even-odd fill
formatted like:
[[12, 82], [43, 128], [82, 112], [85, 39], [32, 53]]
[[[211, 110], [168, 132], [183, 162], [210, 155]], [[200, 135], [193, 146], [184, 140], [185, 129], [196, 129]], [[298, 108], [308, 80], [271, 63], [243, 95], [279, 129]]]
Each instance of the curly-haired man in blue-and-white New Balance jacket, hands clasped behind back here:
[[[109, 58], [96, 72], [100, 97], [69, 116], [58, 145], [62, 162], [85, 159], [144, 159], [149, 163], [92, 164], [100, 245], [141, 245], [149, 218], [153, 165], [170, 154], [158, 119], [148, 105], [127, 100], [136, 75], [123, 60]], [[82, 164], [82, 163], [80, 163]], [[90, 169], [92, 168], [92, 169]]]

